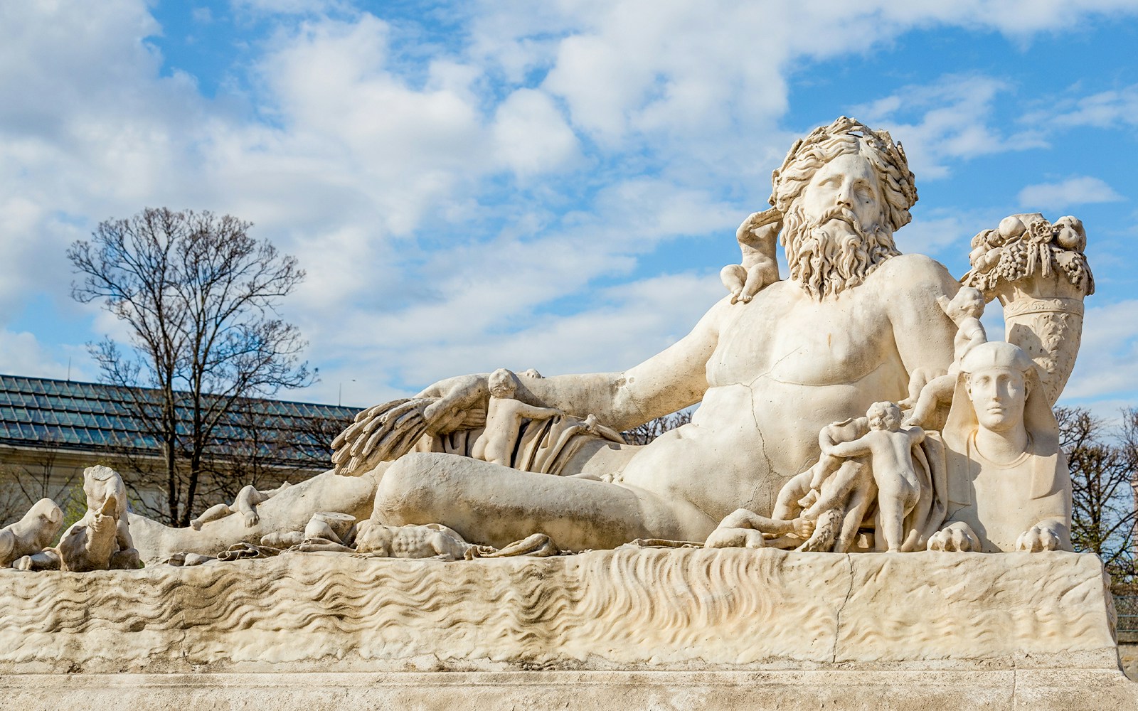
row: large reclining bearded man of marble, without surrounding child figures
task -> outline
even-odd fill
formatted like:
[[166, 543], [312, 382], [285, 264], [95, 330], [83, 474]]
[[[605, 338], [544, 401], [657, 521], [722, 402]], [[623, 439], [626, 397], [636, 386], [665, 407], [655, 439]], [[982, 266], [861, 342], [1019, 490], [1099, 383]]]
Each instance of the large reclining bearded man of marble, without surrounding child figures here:
[[494, 546], [535, 531], [562, 549], [703, 540], [737, 509], [769, 514], [817, 460], [820, 428], [902, 399], [914, 374], [943, 373], [956, 326], [938, 298], [959, 284], [893, 245], [917, 199], [900, 144], [842, 117], [797, 142], [773, 187], [774, 218], [749, 220], [760, 241], [782, 230], [790, 279], [749, 303], [725, 296], [627, 371], [516, 377], [517, 399], [615, 430], [702, 402], [690, 424], [638, 447], [588, 438], [566, 449], [561, 476], [533, 473], [470, 456], [487, 375], [442, 380], [398, 412], [361, 413], [338, 440], [340, 471], [379, 480], [373, 520], [442, 523]]

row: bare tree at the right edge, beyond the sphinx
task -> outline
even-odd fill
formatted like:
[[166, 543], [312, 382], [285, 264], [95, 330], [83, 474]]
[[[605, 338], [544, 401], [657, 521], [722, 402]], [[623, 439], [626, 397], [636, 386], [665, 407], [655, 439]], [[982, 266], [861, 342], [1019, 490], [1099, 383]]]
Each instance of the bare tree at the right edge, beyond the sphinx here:
[[1071, 541], [1097, 553], [1116, 579], [1132, 578], [1138, 410], [1111, 428], [1082, 407], [1057, 407], [1059, 445], [1071, 468]]

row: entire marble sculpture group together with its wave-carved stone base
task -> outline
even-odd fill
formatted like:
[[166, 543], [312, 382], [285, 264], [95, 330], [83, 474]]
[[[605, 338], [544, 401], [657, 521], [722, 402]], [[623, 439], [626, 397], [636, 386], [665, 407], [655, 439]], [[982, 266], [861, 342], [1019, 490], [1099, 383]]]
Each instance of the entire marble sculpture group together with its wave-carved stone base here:
[[[150, 673], [137, 708], [264, 705], [273, 684], [306, 709], [533, 705], [558, 685], [558, 708], [611, 708], [651, 684], [674, 688], [633, 705], [1133, 708], [1102, 562], [1070, 552], [1050, 411], [1094, 290], [1082, 223], [1009, 216], [956, 280], [898, 253], [905, 151], [847, 117], [772, 182], [727, 295], [638, 365], [440, 380], [361, 412], [333, 470], [183, 529], [89, 469], [58, 546], [50, 501], [0, 531], [0, 562], [61, 569], [8, 571], [0, 687], [64, 689], [51, 708], [92, 685], [93, 708], [122, 705], [139, 681], [119, 677]], [[980, 322], [996, 300], [1005, 341]], [[648, 445], [620, 436], [696, 403]]]

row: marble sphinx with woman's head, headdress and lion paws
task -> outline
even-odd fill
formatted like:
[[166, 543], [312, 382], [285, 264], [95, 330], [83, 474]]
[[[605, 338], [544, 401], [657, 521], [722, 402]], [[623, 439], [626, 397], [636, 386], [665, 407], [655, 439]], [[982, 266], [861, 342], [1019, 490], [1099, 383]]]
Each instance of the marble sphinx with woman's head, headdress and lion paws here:
[[949, 511], [930, 548], [1071, 549], [1071, 479], [1026, 353], [993, 341], [965, 356], [945, 443]]

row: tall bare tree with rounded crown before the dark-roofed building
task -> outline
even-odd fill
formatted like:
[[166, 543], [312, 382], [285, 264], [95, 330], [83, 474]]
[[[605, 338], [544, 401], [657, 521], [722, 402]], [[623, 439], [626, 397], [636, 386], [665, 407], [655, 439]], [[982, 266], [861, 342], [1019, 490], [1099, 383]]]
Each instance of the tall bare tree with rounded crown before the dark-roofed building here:
[[[133, 414], [162, 452], [165, 516], [189, 523], [214, 433], [234, 403], [312, 382], [305, 341], [275, 317], [304, 279], [297, 261], [209, 212], [147, 208], [99, 224], [67, 250], [72, 295], [101, 300], [131, 332], [90, 346], [105, 381], [133, 388]], [[150, 389], [137, 389], [146, 386]]]

